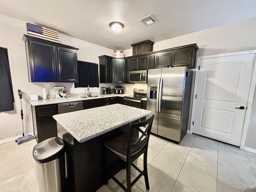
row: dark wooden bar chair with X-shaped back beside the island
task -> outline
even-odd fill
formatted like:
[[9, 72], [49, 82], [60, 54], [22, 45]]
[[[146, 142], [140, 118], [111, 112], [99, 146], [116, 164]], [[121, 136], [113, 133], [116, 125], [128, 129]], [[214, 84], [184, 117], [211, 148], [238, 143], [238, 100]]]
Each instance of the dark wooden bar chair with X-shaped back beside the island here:
[[[144, 176], [146, 189], [149, 189], [148, 182], [148, 170], [147, 170], [147, 154], [148, 154], [148, 141], [150, 136], [150, 131], [152, 128], [152, 122], [154, 115], [149, 119], [141, 122], [130, 123], [130, 131], [128, 133], [123, 133], [116, 138], [108, 140], [104, 143], [107, 150], [112, 151], [119, 158], [126, 162], [126, 181], [127, 188], [118, 181], [114, 175], [110, 174], [111, 170], [107, 170], [106, 167], [106, 184], [108, 183], [108, 177], [110, 176], [125, 192], [131, 192], [132, 186]], [[145, 127], [143, 131], [140, 127]], [[136, 133], [136, 131], [138, 131]], [[134, 134], [135, 133], [135, 134]], [[138, 134], [139, 133], [139, 134]], [[137, 136], [134, 136], [137, 135]], [[140, 170], [132, 162], [136, 160], [140, 155], [144, 154], [143, 158], [143, 170]], [[106, 159], [107, 161], [107, 159]], [[140, 174], [131, 182], [131, 166], [133, 166]]]

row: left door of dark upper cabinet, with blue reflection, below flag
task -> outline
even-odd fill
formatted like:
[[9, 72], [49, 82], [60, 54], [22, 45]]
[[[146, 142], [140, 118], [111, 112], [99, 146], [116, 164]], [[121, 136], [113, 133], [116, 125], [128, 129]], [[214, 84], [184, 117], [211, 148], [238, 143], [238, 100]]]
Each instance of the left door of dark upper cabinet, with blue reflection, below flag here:
[[30, 65], [30, 82], [56, 82], [55, 68], [56, 47], [28, 41], [28, 64]]

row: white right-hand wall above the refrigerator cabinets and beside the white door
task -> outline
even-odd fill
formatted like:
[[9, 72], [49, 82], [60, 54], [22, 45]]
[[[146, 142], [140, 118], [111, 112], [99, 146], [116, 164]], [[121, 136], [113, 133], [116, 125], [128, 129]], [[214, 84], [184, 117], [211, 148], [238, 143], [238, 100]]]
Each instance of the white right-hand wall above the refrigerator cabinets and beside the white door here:
[[[256, 17], [218, 26], [176, 38], [155, 42], [153, 51], [196, 43], [199, 47], [196, 56], [207, 56], [229, 52], [256, 50]], [[132, 49], [125, 50], [132, 56]], [[256, 149], [256, 94], [252, 104], [252, 114], [245, 146]]]

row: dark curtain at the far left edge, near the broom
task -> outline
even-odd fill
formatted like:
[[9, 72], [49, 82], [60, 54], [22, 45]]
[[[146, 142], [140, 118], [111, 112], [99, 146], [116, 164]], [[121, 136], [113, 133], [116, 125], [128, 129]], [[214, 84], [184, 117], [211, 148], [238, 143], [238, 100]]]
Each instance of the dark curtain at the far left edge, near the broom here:
[[0, 112], [14, 110], [12, 78], [7, 49], [0, 47]]

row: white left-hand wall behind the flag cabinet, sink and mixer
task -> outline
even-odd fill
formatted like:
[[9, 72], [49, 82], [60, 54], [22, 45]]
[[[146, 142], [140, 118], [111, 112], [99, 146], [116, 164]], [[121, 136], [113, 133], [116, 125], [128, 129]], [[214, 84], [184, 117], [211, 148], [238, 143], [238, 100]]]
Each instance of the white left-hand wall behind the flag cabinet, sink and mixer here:
[[[16, 138], [22, 134], [18, 89], [22, 91], [22, 108], [24, 111], [26, 110], [30, 94], [42, 95], [43, 83], [28, 81], [25, 42], [22, 40], [23, 34], [26, 34], [26, 22], [0, 14], [0, 47], [8, 49], [14, 91], [14, 110], [0, 112], [0, 143], [1, 141], [12, 140], [13, 137]], [[98, 56], [113, 55], [113, 50], [111, 49], [64, 34], [59, 34], [59, 38], [62, 44], [70, 43], [70, 46], [79, 48], [78, 60], [98, 64]], [[68, 90], [73, 88], [75, 93], [85, 92], [85, 88], [74, 88], [74, 83], [50, 83], [51, 89], [47, 90], [48, 94], [54, 94], [52, 87], [55, 85], [64, 85]], [[97, 92], [98, 88], [93, 88], [92, 91]], [[25, 133], [31, 133], [33, 132], [33, 126], [30, 105], [28, 105], [28, 112], [26, 114], [28, 114], [28, 117], [24, 115]]]

